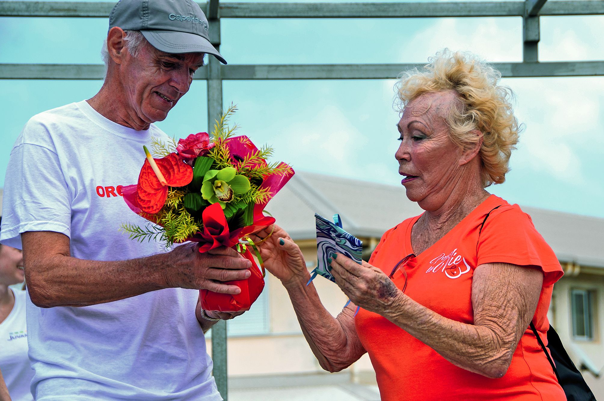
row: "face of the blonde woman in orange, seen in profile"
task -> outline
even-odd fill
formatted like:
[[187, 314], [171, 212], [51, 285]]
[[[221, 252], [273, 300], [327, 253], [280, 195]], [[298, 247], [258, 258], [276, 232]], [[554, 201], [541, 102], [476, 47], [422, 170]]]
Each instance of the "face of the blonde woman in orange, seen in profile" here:
[[407, 197], [424, 210], [442, 207], [463, 179], [463, 152], [449, 138], [445, 121], [455, 96], [452, 91], [420, 95], [407, 104], [397, 124], [400, 146], [394, 156], [402, 184]]

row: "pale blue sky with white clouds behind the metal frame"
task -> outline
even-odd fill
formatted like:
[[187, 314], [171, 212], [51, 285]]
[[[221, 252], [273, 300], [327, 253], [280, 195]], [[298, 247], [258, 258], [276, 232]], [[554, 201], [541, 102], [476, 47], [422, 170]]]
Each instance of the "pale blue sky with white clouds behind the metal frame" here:
[[[551, 0], [550, 0], [551, 1]], [[0, 63], [101, 63], [104, 18], [0, 18]], [[445, 47], [492, 62], [522, 58], [521, 18], [223, 19], [230, 64], [423, 63]], [[542, 17], [539, 60], [604, 60], [604, 16]], [[254, 143], [295, 170], [400, 185], [394, 80], [225, 81], [224, 104]], [[503, 79], [524, 123], [506, 182], [510, 203], [604, 218], [604, 77]], [[0, 80], [0, 187], [28, 118], [92, 97], [100, 80]], [[205, 131], [205, 82], [158, 126]], [[361, 190], [361, 188], [359, 188]]]

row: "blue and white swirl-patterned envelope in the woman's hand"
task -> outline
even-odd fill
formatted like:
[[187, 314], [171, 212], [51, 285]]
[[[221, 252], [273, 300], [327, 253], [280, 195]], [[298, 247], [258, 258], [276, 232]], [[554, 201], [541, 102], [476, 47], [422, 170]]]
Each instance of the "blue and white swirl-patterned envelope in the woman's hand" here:
[[[342, 229], [339, 214], [333, 215], [336, 224], [315, 213], [316, 219], [316, 255], [317, 264], [312, 278], [317, 274], [335, 281], [329, 268], [327, 258], [334, 252], [346, 255], [361, 264], [362, 241]], [[312, 278], [310, 280], [312, 280]], [[310, 283], [310, 281], [309, 281]]]

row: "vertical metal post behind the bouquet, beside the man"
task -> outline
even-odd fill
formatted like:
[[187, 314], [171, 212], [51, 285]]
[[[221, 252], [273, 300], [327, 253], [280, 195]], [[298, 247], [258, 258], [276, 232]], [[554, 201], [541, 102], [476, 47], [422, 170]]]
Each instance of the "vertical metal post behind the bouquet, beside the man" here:
[[[220, 17], [219, 0], [208, 2], [207, 16], [210, 24], [210, 40], [216, 50], [220, 51]], [[214, 126], [222, 112], [222, 76], [220, 62], [208, 56], [208, 131]], [[228, 370], [226, 366], [226, 320], [212, 326], [212, 360], [214, 362], [214, 380], [220, 396], [228, 400]]]

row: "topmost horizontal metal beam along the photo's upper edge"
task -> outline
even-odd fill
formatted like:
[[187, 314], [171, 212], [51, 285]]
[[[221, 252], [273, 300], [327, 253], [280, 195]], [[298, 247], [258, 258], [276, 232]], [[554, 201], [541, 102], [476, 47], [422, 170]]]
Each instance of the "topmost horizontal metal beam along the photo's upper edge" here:
[[[541, 1], [541, 0], [536, 0]], [[199, 2], [208, 10], [207, 2]], [[104, 17], [115, 2], [0, 1], [2, 17]], [[220, 18], [420, 18], [524, 16], [524, 1], [396, 3], [222, 3]], [[602, 0], [545, 3], [539, 15], [604, 14]]]

